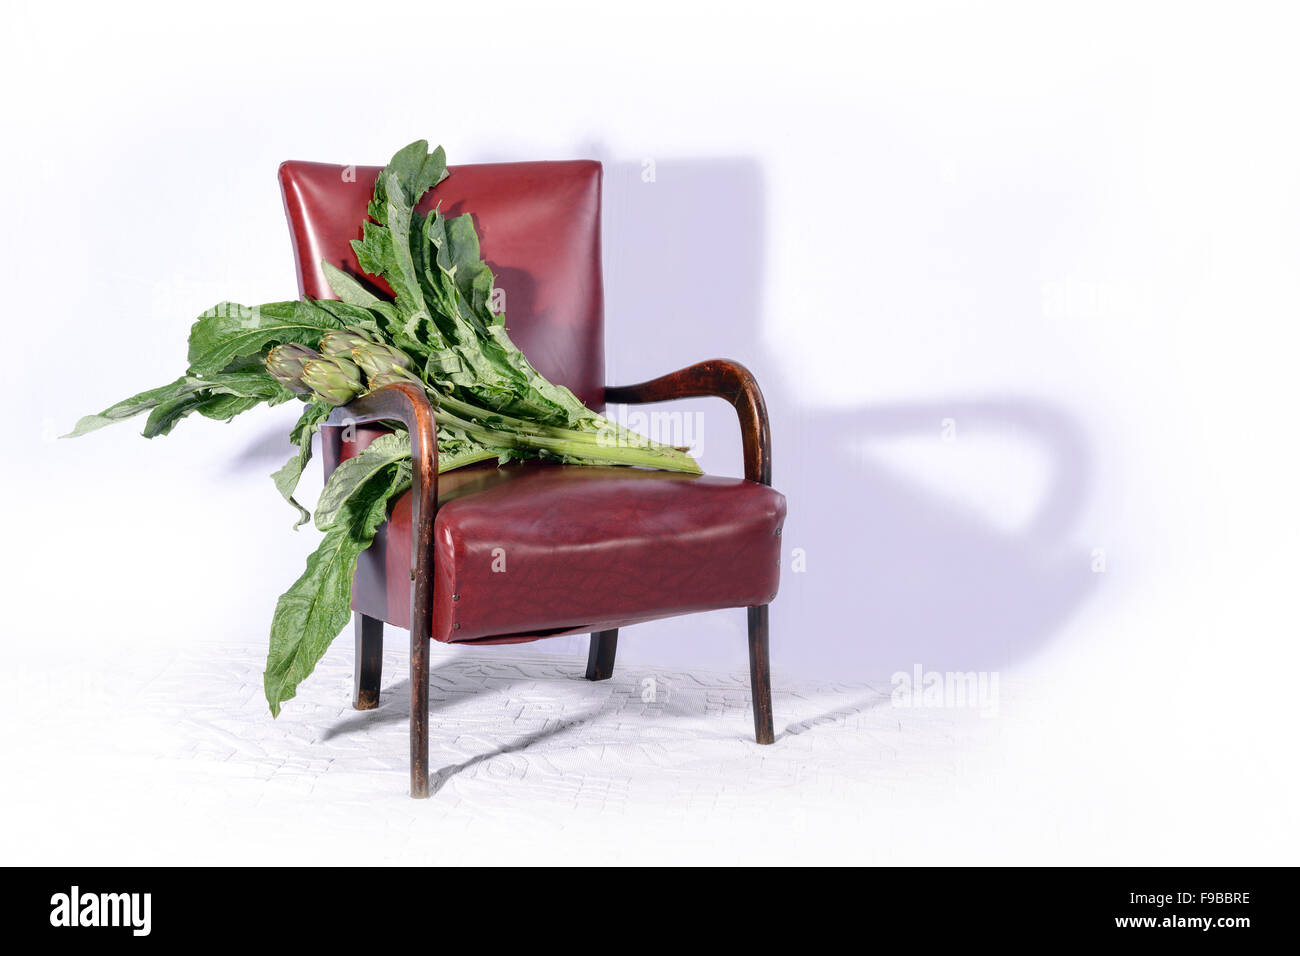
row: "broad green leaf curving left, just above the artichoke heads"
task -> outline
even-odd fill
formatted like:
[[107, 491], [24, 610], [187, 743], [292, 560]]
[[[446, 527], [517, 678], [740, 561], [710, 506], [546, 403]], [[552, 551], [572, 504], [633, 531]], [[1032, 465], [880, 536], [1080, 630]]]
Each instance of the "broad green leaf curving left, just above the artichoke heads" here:
[[216, 375], [235, 359], [285, 342], [315, 349], [321, 334], [342, 326], [338, 319], [312, 302], [272, 302], [255, 308], [222, 302], [204, 312], [190, 329], [190, 372]]

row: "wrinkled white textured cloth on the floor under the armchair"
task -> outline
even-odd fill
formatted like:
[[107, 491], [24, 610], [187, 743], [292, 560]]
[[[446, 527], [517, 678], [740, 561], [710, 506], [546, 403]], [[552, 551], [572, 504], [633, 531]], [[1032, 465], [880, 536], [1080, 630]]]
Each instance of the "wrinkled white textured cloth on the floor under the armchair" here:
[[387, 640], [377, 710], [351, 709], [348, 633], [276, 721], [252, 640], [77, 666], [46, 648], [43, 679], [8, 701], [21, 713], [6, 723], [6, 803], [30, 826], [8, 829], [5, 858], [827, 858], [848, 852], [836, 832], [879, 826], [881, 808], [941, 799], [998, 723], [893, 708], [887, 682], [777, 671], [777, 743], [759, 747], [746, 674], [619, 663], [590, 683], [573, 656], [434, 645], [434, 793], [417, 801], [406, 632]]

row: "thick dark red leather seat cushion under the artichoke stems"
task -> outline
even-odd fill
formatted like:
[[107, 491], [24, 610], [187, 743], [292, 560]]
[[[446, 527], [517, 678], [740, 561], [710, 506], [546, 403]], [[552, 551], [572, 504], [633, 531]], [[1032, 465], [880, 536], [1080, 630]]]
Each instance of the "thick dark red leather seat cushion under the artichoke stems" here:
[[[521, 643], [763, 605], [780, 578], [785, 498], [744, 479], [489, 462], [442, 475], [438, 501], [438, 641]], [[352, 606], [410, 627], [410, 493], [363, 558]]]

